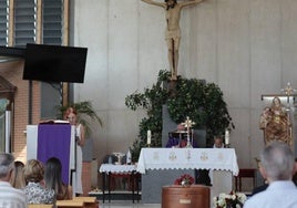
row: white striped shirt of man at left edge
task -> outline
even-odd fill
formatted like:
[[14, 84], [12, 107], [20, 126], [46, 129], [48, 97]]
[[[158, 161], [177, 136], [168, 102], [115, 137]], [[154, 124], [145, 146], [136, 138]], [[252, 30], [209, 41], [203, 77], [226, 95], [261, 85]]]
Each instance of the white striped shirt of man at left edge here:
[[25, 195], [8, 181], [0, 181], [0, 208], [27, 208]]

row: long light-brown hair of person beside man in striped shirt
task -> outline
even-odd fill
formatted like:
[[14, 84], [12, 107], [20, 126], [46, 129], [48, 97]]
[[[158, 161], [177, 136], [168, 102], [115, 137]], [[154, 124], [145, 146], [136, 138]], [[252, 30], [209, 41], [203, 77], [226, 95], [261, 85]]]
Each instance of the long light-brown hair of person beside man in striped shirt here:
[[14, 162], [14, 169], [10, 178], [10, 184], [14, 188], [22, 188], [25, 186], [24, 176], [23, 176], [24, 164], [22, 162]]

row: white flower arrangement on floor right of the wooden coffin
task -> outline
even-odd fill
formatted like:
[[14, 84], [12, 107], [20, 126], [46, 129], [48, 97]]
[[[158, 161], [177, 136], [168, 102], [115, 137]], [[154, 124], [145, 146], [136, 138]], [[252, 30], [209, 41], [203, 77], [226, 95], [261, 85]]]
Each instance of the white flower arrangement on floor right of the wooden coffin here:
[[246, 201], [246, 195], [243, 193], [231, 191], [219, 194], [218, 197], [213, 198], [215, 208], [242, 208]]

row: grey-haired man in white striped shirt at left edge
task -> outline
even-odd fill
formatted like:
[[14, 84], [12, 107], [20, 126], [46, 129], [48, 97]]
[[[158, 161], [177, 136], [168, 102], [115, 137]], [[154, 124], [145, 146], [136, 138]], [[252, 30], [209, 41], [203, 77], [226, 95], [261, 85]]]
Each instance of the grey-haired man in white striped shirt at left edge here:
[[24, 193], [13, 188], [9, 179], [14, 168], [14, 157], [7, 153], [0, 153], [0, 207], [24, 208], [28, 207]]

